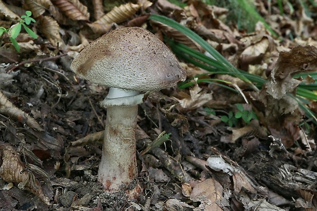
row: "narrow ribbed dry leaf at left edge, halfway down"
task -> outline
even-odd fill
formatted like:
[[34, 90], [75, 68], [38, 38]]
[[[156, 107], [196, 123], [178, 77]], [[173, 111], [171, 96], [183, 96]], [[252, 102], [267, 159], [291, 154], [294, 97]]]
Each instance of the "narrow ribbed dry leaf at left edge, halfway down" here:
[[26, 123], [30, 128], [33, 128], [35, 130], [43, 130], [31, 116], [29, 116], [27, 113], [14, 106], [1, 91], [0, 113], [11, 116], [11, 118], [17, 119], [21, 123]]

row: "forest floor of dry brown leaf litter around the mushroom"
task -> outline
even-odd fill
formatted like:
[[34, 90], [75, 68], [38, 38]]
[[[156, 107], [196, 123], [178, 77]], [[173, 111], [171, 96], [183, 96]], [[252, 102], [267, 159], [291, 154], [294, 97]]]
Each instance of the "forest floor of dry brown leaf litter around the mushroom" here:
[[[98, 6], [101, 0], [92, 2], [0, 4], [3, 27], [30, 10], [36, 20], [30, 29], [38, 35], [34, 39], [22, 28], [19, 52], [8, 34], [2, 37], [1, 210], [317, 210], [316, 125], [286, 95], [296, 92], [299, 80], [315, 83], [291, 78], [316, 69], [315, 7], [308, 17], [303, 5], [289, 1], [295, 10], [285, 4], [281, 15], [275, 1], [255, 1], [277, 38], [261, 22], [253, 33], [238, 30], [225, 21], [229, 10], [200, 1], [184, 8], [160, 0], [118, 1], [105, 8]], [[106, 18], [105, 11], [111, 11]], [[182, 22], [235, 67], [268, 82], [256, 91], [234, 77], [209, 74], [198, 78], [218, 84], [194, 81], [146, 96], [139, 106], [134, 181], [143, 192], [127, 199], [129, 185], [109, 193], [97, 181], [106, 117], [99, 102], [107, 88], [79, 78], [70, 65], [89, 42], [126, 26], [142, 26], [162, 40], [163, 34], [183, 40], [205, 53], [193, 40], [150, 21], [150, 13]], [[179, 60], [188, 79], [207, 73]], [[219, 81], [234, 85], [227, 89]], [[308, 100], [307, 107], [315, 112], [316, 102]], [[235, 116], [239, 112], [241, 118]], [[168, 140], [145, 151], [163, 131], [170, 133]]]

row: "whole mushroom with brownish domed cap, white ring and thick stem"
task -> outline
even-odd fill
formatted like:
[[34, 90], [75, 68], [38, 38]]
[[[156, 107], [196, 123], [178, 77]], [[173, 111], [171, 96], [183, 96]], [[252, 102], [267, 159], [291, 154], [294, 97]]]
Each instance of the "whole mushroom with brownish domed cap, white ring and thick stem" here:
[[186, 79], [186, 72], [160, 39], [139, 27], [96, 39], [74, 59], [71, 69], [109, 87], [100, 103], [107, 116], [98, 181], [106, 190], [118, 191], [138, 176], [135, 129], [144, 93], [175, 86]]

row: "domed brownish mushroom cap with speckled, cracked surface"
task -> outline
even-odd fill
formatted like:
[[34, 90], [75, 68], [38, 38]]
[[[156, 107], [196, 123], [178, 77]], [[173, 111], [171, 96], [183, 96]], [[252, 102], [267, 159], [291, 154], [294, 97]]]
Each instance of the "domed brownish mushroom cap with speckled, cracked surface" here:
[[160, 90], [186, 80], [167, 46], [140, 27], [99, 37], [79, 53], [71, 69], [92, 83], [135, 91]]

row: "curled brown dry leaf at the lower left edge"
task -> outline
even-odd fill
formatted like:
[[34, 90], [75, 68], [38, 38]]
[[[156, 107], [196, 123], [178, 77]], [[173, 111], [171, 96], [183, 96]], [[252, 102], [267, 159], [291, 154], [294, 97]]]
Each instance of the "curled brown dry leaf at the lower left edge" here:
[[0, 176], [6, 182], [18, 183], [20, 189], [26, 189], [38, 196], [44, 203], [50, 205], [50, 200], [43, 193], [39, 181], [35, 176], [26, 171], [17, 151], [10, 144], [0, 145], [2, 166]]

